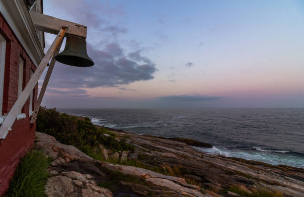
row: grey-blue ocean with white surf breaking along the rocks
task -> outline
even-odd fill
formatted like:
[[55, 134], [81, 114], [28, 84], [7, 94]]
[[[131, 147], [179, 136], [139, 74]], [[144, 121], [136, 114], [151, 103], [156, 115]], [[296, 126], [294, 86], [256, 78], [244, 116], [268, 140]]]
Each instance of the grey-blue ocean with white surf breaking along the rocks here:
[[58, 109], [135, 134], [191, 138], [211, 154], [304, 168], [304, 109]]

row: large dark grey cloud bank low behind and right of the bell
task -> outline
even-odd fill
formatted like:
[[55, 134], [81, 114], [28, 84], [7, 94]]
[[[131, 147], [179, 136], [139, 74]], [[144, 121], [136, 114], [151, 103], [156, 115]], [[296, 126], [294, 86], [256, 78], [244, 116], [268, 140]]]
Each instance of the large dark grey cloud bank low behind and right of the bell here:
[[137, 59], [124, 56], [123, 49], [117, 43], [111, 43], [104, 49], [87, 45], [88, 54], [94, 61], [92, 67], [74, 67], [56, 63], [49, 83], [51, 88], [96, 88], [118, 87], [136, 81], [147, 81], [154, 77], [156, 65], [148, 57], [136, 52]]

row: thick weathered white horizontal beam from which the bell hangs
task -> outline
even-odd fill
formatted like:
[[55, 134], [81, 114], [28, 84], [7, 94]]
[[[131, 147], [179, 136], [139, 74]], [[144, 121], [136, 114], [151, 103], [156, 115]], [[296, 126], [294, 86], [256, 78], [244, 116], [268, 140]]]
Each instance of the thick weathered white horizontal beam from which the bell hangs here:
[[86, 26], [34, 11], [30, 13], [37, 31], [58, 34], [62, 26], [66, 26], [68, 27], [66, 35], [76, 35], [86, 38]]

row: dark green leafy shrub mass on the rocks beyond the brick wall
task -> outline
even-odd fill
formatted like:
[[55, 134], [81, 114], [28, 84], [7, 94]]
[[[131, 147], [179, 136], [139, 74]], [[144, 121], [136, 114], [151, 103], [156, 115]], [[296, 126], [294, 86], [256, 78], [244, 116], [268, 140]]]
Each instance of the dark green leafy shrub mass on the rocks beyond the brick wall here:
[[[96, 127], [88, 117], [59, 113], [56, 108], [40, 107], [36, 130], [54, 136], [62, 144], [73, 145], [86, 154], [92, 154], [91, 151], [99, 144], [113, 151], [134, 149], [124, 139], [120, 142], [116, 141], [113, 132]], [[103, 134], [110, 136], [105, 137]]]

